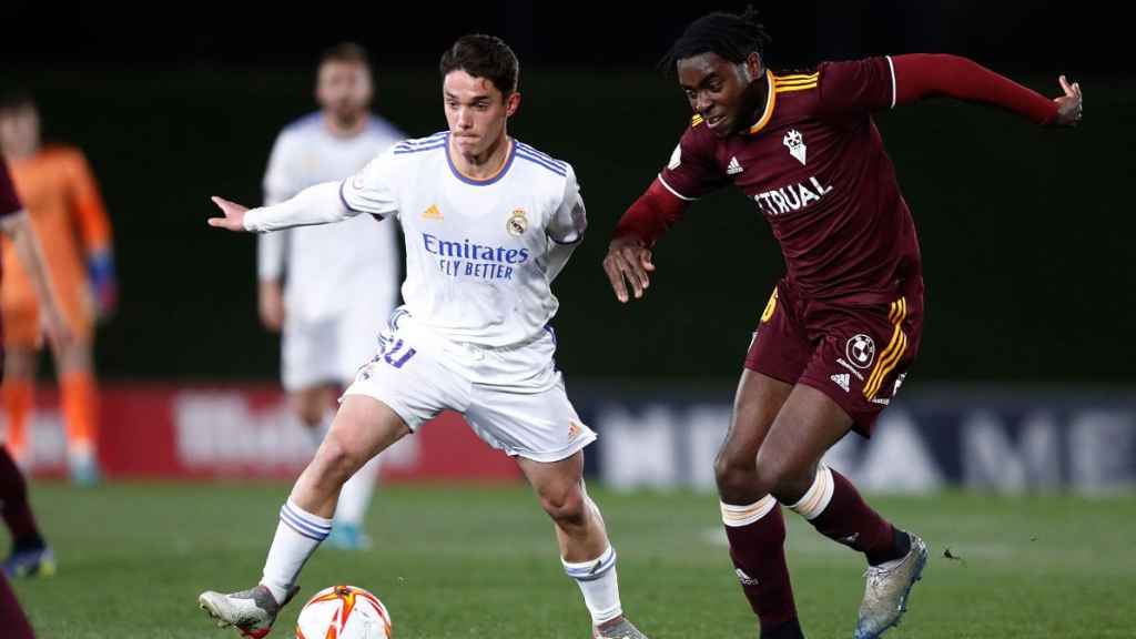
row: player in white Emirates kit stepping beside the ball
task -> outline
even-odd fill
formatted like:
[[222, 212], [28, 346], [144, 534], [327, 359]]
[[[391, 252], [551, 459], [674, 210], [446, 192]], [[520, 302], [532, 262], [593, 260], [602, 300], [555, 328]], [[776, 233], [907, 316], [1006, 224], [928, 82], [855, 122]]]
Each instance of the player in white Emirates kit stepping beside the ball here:
[[520, 105], [519, 65], [488, 35], [459, 39], [441, 61], [449, 131], [407, 140], [343, 182], [249, 210], [214, 198], [209, 224], [266, 232], [360, 214], [402, 223], [406, 305], [343, 396], [331, 431], [281, 508], [264, 575], [231, 595], [203, 592], [218, 625], [260, 638], [295, 594], [331, 530], [340, 487], [368, 459], [444, 409], [517, 459], [552, 517], [565, 571], [579, 584], [593, 637], [643, 638], [624, 617], [616, 553], [583, 482], [595, 439], [565, 393], [548, 322], [550, 284], [583, 239], [570, 165], [507, 134]]

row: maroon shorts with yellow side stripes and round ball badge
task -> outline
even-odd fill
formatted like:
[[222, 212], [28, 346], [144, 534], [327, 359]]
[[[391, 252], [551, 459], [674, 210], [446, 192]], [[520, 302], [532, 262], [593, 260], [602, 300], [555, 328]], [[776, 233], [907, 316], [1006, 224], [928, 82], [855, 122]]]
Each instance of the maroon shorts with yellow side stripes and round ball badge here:
[[922, 335], [922, 290], [896, 292], [891, 302], [801, 299], [777, 283], [745, 367], [790, 384], [824, 392], [852, 417], [853, 430], [871, 426], [900, 389]]

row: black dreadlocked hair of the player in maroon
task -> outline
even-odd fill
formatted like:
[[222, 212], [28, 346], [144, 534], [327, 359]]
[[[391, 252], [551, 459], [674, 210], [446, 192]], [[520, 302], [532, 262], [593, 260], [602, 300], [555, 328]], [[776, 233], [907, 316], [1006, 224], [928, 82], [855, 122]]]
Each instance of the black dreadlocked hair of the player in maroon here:
[[678, 60], [702, 53], [717, 53], [738, 65], [750, 53], [765, 58], [769, 41], [765, 25], [758, 20], [758, 10], [752, 6], [746, 7], [742, 14], [715, 11], [691, 23], [659, 61], [659, 66], [667, 73], [674, 73]]

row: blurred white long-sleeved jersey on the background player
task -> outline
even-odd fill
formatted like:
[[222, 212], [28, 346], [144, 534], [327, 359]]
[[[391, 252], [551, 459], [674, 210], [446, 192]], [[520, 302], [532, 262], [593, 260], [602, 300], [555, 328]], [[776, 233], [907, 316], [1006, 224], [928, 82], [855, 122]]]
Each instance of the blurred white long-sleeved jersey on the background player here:
[[[353, 138], [336, 138], [321, 113], [286, 126], [276, 138], [265, 173], [265, 204], [291, 198], [320, 182], [352, 175], [403, 135], [378, 117]], [[398, 293], [395, 230], [370, 216], [342, 224], [290, 229], [259, 238], [258, 274], [279, 280], [296, 320], [320, 321], [349, 304], [393, 305]]]

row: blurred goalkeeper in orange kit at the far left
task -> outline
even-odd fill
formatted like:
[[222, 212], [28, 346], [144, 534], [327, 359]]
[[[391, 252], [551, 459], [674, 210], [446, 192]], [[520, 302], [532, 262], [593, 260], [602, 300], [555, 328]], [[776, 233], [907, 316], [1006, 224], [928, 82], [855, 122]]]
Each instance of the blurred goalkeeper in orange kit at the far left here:
[[[43, 243], [44, 260], [74, 335], [53, 355], [70, 476], [76, 484], [90, 486], [99, 479], [94, 321], [112, 313], [117, 302], [110, 222], [83, 153], [74, 147], [41, 144], [40, 114], [30, 93], [17, 91], [0, 99], [0, 150]], [[43, 346], [41, 308], [10, 242], [5, 243], [0, 308], [8, 350], [3, 383], [8, 449], [17, 463], [28, 467], [33, 458], [27, 425]]]

